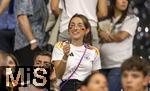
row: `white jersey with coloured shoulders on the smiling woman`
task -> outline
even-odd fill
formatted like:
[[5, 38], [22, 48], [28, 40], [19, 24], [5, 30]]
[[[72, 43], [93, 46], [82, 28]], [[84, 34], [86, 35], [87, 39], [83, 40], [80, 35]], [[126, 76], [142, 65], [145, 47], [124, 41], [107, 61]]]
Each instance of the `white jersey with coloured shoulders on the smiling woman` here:
[[[63, 44], [64, 42], [58, 42], [55, 45], [52, 54], [53, 61], [62, 60], [64, 56]], [[84, 47], [84, 45], [77, 47], [70, 44], [70, 53], [66, 64], [66, 70], [62, 77], [63, 80], [67, 80], [76, 69], [81, 57], [83, 56], [83, 53], [85, 52], [85, 49], [86, 48]], [[95, 47], [87, 48], [79, 68], [71, 77], [71, 79], [78, 79], [80, 81], [83, 81], [88, 75], [91, 74], [92, 71], [96, 71], [99, 69], [101, 69], [99, 50]]]

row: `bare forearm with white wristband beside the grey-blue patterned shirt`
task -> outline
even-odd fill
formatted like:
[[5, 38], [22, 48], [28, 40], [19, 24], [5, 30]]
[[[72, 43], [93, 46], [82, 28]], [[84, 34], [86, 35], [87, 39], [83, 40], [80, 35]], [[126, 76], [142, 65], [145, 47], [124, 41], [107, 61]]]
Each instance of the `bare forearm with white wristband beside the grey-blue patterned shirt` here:
[[[32, 40], [35, 40], [32, 34], [32, 26], [29, 22], [27, 15], [19, 15], [17, 19], [18, 19], [21, 31], [26, 36], [27, 40], [29, 42], [31, 42]], [[37, 42], [31, 43], [31, 49], [35, 49], [36, 47], [37, 47]]]

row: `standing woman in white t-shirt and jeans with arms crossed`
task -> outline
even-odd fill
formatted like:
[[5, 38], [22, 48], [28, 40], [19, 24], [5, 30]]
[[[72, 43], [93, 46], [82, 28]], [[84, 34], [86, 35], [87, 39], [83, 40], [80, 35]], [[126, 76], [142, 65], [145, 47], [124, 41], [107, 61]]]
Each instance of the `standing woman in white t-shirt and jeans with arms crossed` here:
[[133, 39], [139, 19], [128, 14], [129, 0], [111, 0], [108, 18], [99, 22], [101, 58], [109, 91], [120, 91], [120, 66], [132, 56]]

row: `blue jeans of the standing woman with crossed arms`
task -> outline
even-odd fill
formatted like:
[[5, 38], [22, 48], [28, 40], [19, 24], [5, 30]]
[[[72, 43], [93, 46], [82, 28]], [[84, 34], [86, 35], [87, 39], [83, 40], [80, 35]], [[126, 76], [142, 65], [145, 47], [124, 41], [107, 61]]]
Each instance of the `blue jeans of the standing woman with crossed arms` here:
[[101, 72], [108, 79], [109, 91], [121, 91], [120, 68], [102, 69]]

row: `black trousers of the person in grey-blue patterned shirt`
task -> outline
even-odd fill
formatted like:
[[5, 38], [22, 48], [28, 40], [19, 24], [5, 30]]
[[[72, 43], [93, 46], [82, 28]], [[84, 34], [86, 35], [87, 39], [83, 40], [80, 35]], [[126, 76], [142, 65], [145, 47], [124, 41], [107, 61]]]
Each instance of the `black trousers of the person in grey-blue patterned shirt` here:
[[20, 66], [33, 66], [33, 57], [37, 52], [41, 51], [39, 47], [34, 50], [30, 49], [30, 45], [15, 51]]

